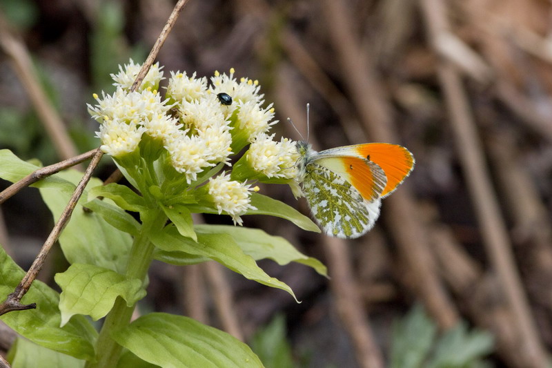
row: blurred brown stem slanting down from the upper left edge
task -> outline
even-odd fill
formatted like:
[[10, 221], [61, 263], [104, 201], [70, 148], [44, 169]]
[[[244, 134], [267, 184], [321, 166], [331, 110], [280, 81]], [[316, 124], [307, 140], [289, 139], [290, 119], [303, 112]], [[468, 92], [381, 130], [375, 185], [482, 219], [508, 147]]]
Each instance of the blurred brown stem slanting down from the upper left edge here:
[[77, 148], [72, 143], [61, 117], [52, 107], [44, 92], [37, 73], [34, 71], [29, 52], [25, 43], [9, 29], [6, 19], [0, 12], [0, 47], [12, 61], [13, 67], [29, 99], [37, 110], [37, 114], [46, 132], [54, 142], [54, 148], [61, 159], [77, 155]]

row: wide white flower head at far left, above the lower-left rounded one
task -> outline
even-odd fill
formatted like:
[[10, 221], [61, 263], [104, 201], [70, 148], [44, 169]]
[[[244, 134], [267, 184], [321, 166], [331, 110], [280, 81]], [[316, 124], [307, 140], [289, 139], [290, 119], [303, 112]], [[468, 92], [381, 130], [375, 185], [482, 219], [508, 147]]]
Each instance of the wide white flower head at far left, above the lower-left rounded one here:
[[171, 106], [166, 100], [161, 101], [157, 90], [147, 88], [140, 92], [128, 92], [119, 87], [113, 95], [101, 93], [101, 99], [94, 94], [98, 101], [96, 106], [88, 105], [92, 117], [98, 122], [106, 120], [121, 120], [129, 124], [141, 124], [145, 119], [152, 119], [159, 114], [165, 114]]

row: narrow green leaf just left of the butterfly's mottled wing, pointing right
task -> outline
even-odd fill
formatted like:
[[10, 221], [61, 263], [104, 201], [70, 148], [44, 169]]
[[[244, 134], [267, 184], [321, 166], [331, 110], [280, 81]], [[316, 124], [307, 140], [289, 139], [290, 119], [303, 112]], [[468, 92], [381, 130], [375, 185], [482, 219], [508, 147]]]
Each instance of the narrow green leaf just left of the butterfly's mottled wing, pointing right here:
[[319, 233], [320, 229], [310, 218], [302, 215], [293, 207], [288, 206], [284, 202], [273, 200], [259, 193], [251, 193], [251, 205], [255, 206], [256, 210], [248, 210], [248, 215], [270, 215], [282, 217], [289, 220], [306, 231], [314, 231]]

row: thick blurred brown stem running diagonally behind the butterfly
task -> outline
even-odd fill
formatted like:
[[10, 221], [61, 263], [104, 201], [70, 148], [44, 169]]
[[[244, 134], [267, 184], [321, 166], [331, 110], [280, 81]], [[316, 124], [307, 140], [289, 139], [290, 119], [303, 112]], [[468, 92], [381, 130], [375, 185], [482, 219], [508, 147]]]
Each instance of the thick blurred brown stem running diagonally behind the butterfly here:
[[[380, 87], [381, 82], [372, 61], [355, 39], [350, 11], [342, 1], [326, 0], [322, 7], [336, 58], [342, 68], [342, 77], [366, 132], [375, 142], [397, 142], [391, 107]], [[408, 186], [403, 186], [386, 199], [384, 206], [397, 246], [415, 277], [415, 288], [420, 291], [428, 311], [439, 325], [442, 328], [452, 327], [458, 320], [457, 311], [435, 273], [433, 256], [427, 247], [423, 224], [416, 215], [416, 204], [408, 192]]]

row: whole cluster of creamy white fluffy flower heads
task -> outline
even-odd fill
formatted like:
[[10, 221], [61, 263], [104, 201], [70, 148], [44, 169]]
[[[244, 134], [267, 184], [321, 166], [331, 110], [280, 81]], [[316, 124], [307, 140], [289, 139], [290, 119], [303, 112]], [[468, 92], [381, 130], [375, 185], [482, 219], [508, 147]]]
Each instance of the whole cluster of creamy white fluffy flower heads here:
[[[250, 168], [268, 178], [293, 181], [297, 149], [289, 139], [277, 142], [274, 135], [267, 135], [277, 121], [273, 120], [272, 104], [263, 107], [258, 81], [237, 81], [233, 68], [229, 75], [215, 72], [210, 84], [195, 73], [170, 72], [162, 98], [158, 88], [164, 77], [159, 64], [152, 66], [138, 90], [130, 92], [140, 68], [132, 60], [119, 66], [119, 72], [111, 75], [117, 86], [115, 93], [95, 94], [97, 104], [88, 105], [90, 115], [100, 123], [97, 137], [104, 153], [119, 159], [142, 152], [138, 146], [148, 135], [152, 141], [161, 142], [158, 146], [166, 150], [166, 163], [191, 184], [210, 167], [221, 162], [230, 166], [233, 149], [241, 151], [250, 144], [246, 153]], [[239, 180], [247, 178], [244, 175]], [[242, 224], [239, 215], [253, 209], [249, 195], [257, 190], [230, 180], [230, 175], [210, 178], [208, 184], [219, 213], [228, 213], [237, 224]]]

